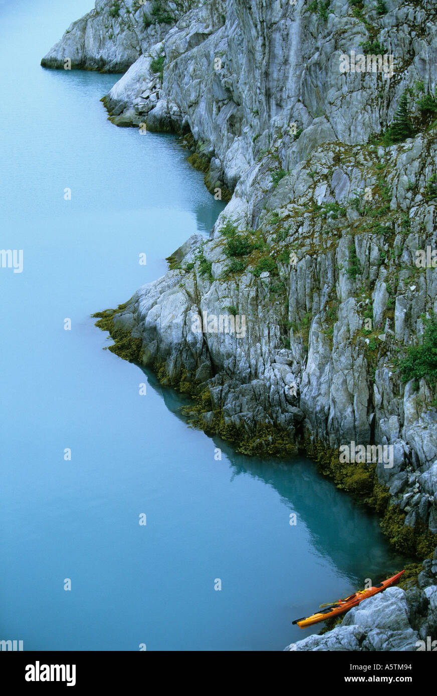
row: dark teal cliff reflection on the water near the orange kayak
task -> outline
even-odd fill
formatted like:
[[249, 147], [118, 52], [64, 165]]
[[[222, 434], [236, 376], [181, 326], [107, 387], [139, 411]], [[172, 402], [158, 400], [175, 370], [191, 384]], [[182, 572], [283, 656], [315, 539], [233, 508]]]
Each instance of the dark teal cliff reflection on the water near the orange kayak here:
[[[144, 372], [167, 408], [187, 422], [181, 406], [192, 403], [191, 400], [163, 388], [153, 372]], [[318, 472], [311, 459], [247, 457], [220, 437], [213, 436], [211, 440], [222, 450], [222, 461], [217, 464], [225, 465], [227, 459], [232, 478], [249, 474], [275, 489], [290, 513], [296, 513], [297, 525], [305, 525], [314, 550], [330, 560], [357, 588], [364, 585], [366, 578], [378, 583], [411, 562], [390, 546], [380, 528], [381, 518], [337, 489], [332, 480]], [[305, 577], [300, 580], [304, 582]]]

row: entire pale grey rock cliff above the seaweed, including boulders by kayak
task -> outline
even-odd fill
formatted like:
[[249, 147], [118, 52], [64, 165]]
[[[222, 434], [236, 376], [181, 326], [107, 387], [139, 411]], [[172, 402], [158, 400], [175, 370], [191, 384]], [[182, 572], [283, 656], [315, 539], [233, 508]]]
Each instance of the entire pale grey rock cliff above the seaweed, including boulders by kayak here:
[[[233, 191], [210, 239], [178, 250], [115, 328], [165, 383], [203, 390], [207, 430], [220, 418], [306, 448], [390, 448], [379, 484], [407, 528], [436, 534], [436, 387], [397, 366], [437, 310], [434, 0], [373, 1], [365, 17], [347, 0], [209, 0], [143, 31], [143, 7], [112, 17], [113, 4], [98, 1], [43, 64], [70, 52], [77, 67], [130, 66], [106, 97], [112, 120], [192, 136], [208, 186]], [[365, 72], [342, 72], [353, 52]], [[435, 566], [434, 554], [422, 586], [367, 600], [298, 649], [436, 638]]]

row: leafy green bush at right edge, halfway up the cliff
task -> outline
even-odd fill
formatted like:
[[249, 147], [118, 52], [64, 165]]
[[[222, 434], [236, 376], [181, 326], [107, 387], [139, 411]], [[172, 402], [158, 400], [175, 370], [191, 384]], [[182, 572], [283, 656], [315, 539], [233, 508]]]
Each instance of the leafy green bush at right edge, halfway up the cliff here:
[[422, 345], [408, 347], [406, 356], [399, 360], [403, 382], [422, 377], [433, 384], [437, 380], [437, 317], [424, 318], [424, 326]]

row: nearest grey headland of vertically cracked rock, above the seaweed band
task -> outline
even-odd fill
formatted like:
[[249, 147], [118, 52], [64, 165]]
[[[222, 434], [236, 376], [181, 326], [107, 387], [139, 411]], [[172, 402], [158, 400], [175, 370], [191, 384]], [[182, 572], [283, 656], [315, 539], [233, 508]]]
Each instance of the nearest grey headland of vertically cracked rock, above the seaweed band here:
[[[249, 175], [252, 200], [247, 190], [247, 198], [241, 196], [234, 204], [243, 189], [238, 184], [213, 239], [202, 246], [201, 257], [195, 247], [181, 262], [181, 269], [141, 287], [114, 322], [117, 327], [136, 327], [132, 335], [141, 337], [144, 365], [164, 363], [170, 378], [183, 369], [194, 376], [202, 366], [202, 374], [210, 378], [212, 410], [220, 406], [233, 425], [240, 427], [244, 422], [254, 428], [256, 422], [274, 422], [300, 443], [319, 438], [330, 448], [351, 441], [392, 445], [392, 466], [386, 468], [380, 462], [379, 479], [390, 487], [392, 503], [408, 508], [407, 524], [422, 521], [436, 533], [434, 391], [425, 380], [418, 390], [414, 380], [404, 385], [394, 366], [397, 348], [404, 346], [404, 340], [399, 342], [396, 336], [409, 335], [411, 342], [422, 314], [432, 314], [436, 303], [434, 269], [422, 272], [415, 266], [417, 248], [436, 246], [435, 207], [427, 205], [418, 192], [408, 194], [410, 206], [399, 203], [404, 195], [405, 159], [412, 148], [424, 186], [437, 157], [433, 136], [417, 136], [407, 146], [393, 145], [385, 159], [376, 159], [374, 152], [362, 152], [357, 146], [346, 149], [332, 143], [329, 150], [316, 148], [269, 193], [268, 165], [274, 159], [255, 164]], [[337, 157], [344, 164], [336, 166]], [[375, 164], [382, 167], [384, 162], [384, 168], [372, 173]], [[347, 198], [355, 189], [364, 191], [367, 186], [376, 191], [378, 177], [385, 173], [391, 191], [387, 219], [392, 239], [363, 229], [363, 218], [353, 207], [346, 206], [342, 217], [336, 214], [337, 219], [325, 217], [323, 208], [322, 214], [311, 210], [318, 200], [322, 205], [326, 200], [318, 191], [321, 187], [325, 191], [327, 185], [319, 182], [330, 169], [328, 186], [334, 201], [338, 198], [335, 182], [342, 181], [342, 194]], [[406, 171], [413, 175], [408, 168]], [[316, 174], [309, 177], [313, 172]], [[256, 218], [247, 214], [257, 191], [263, 192], [266, 207], [275, 211], [273, 221], [266, 210]], [[245, 216], [243, 201], [247, 201]], [[377, 210], [377, 196], [375, 206]], [[403, 209], [412, 210], [408, 233], [401, 230]], [[232, 213], [240, 228], [261, 228], [266, 258], [273, 254], [278, 259], [263, 277], [254, 273], [259, 250], [252, 253], [252, 267], [250, 256], [247, 269], [240, 274], [226, 272], [228, 238], [220, 229], [223, 219]], [[284, 229], [284, 242], [277, 242]], [[296, 264], [288, 262], [291, 248], [296, 249]], [[361, 269], [357, 278], [348, 274], [351, 258]], [[205, 263], [210, 264], [210, 275], [204, 273]], [[396, 303], [404, 304], [399, 319], [387, 308], [386, 288], [395, 276], [396, 289], [390, 290], [396, 293]], [[362, 285], [366, 279], [367, 285]], [[283, 287], [276, 292], [280, 284]], [[332, 317], [333, 303], [337, 317]], [[229, 306], [246, 317], [244, 336], [192, 331], [197, 315], [206, 312], [219, 317]], [[374, 326], [369, 331], [371, 338], [363, 334], [366, 312]], [[290, 393], [293, 383], [296, 395]]]

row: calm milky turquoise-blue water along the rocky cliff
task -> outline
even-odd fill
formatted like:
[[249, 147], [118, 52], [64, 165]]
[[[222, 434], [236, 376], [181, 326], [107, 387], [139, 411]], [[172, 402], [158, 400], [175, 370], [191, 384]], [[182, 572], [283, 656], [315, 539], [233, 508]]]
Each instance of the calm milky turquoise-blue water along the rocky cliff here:
[[0, 3], [0, 246], [23, 250], [21, 274], [0, 269], [0, 639], [280, 650], [312, 632], [293, 619], [402, 561], [311, 462], [237, 455], [102, 351], [91, 313], [164, 274], [222, 206], [174, 136], [108, 122], [99, 100], [117, 76], [40, 68], [89, 9]]

